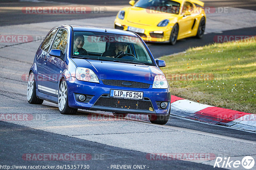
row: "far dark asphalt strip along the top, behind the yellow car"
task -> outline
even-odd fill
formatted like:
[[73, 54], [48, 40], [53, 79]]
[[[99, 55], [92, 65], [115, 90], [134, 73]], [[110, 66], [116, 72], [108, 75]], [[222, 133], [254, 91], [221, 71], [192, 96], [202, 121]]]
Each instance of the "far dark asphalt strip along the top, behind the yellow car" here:
[[[72, 14], [65, 15], [65, 19], [83, 19], [83, 18], [97, 18], [97, 17], [107, 17], [116, 16], [117, 12], [124, 6], [129, 6], [128, 0], [1, 0], [1, 18], [0, 26], [3, 25], [17, 25], [17, 24], [29, 24], [36, 22], [46, 22], [46, 21], [61, 21], [64, 20], [63, 15], [24, 15], [21, 12], [22, 7], [32, 7], [32, 6], [59, 6], [59, 5], [69, 5], [69, 6], [112, 6], [112, 8], [107, 8], [104, 10], [104, 14], [100, 13], [89, 13], [89, 14]], [[206, 7], [236, 7], [248, 10], [256, 10], [256, 2], [254, 0], [205, 0]], [[72, 5], [70, 5], [72, 4]]]

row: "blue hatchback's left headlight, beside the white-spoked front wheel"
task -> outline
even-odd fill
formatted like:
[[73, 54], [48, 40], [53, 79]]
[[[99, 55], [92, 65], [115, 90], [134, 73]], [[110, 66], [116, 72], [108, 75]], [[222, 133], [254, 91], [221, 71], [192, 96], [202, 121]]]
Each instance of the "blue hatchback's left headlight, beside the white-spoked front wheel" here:
[[81, 81], [100, 83], [97, 75], [91, 69], [84, 67], [76, 67], [76, 79]]

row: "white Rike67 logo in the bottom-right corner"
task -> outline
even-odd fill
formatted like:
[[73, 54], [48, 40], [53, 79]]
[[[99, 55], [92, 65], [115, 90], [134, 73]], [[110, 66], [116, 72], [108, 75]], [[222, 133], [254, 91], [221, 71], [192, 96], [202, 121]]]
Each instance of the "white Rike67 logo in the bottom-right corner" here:
[[230, 157], [217, 157], [214, 163], [214, 168], [218, 167], [218, 168], [238, 168], [241, 167], [241, 165], [245, 168], [245, 169], [252, 169], [252, 167], [254, 166], [254, 159], [251, 156], [245, 156], [242, 161], [240, 160], [230, 160]]

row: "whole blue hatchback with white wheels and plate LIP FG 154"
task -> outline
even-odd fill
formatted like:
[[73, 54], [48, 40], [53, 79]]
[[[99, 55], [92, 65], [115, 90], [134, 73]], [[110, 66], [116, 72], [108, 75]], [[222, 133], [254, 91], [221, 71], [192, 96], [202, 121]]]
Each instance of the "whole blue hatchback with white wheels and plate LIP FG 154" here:
[[59, 25], [47, 34], [29, 70], [27, 99], [56, 103], [61, 114], [77, 109], [148, 115], [166, 124], [169, 84], [148, 46], [134, 32]]

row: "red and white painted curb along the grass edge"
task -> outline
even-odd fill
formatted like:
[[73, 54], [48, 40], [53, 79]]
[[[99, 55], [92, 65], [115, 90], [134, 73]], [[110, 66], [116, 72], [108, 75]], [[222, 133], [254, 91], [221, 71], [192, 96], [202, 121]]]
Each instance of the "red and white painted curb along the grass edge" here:
[[171, 96], [171, 114], [201, 122], [256, 132], [256, 114], [196, 103]]

